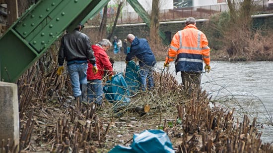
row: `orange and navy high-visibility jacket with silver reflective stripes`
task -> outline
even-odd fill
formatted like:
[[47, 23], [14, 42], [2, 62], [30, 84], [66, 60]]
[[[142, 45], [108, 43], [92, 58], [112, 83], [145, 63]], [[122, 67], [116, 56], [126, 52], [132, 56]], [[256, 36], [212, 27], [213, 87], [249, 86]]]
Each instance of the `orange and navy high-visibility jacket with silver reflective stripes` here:
[[172, 39], [166, 61], [175, 61], [176, 72], [202, 72], [203, 60], [209, 65], [209, 47], [205, 34], [193, 24], [178, 31]]

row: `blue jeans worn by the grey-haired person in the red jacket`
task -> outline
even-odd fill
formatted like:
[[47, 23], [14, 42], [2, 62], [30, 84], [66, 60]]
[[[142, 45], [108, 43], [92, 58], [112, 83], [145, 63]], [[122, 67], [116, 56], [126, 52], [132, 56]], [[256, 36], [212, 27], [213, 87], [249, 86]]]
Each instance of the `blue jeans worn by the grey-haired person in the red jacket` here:
[[87, 84], [87, 98], [88, 102], [95, 102], [98, 105], [102, 104], [103, 99], [103, 89], [102, 80], [88, 80]]

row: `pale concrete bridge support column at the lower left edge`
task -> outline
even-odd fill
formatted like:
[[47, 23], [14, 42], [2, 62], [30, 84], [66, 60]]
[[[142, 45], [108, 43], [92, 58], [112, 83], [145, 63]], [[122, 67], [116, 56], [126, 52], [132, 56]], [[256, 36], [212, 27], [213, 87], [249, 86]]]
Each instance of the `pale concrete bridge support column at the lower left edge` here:
[[19, 151], [17, 85], [0, 81], [0, 141], [3, 139], [4, 146], [7, 145], [7, 139], [10, 139], [8, 145], [11, 147], [14, 141], [14, 145], [18, 146], [17, 151]]

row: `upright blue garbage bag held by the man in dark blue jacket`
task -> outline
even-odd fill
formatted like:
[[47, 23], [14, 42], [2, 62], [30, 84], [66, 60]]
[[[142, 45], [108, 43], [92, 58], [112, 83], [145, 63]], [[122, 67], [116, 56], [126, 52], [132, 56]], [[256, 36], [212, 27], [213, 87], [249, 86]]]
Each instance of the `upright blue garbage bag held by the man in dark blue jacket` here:
[[139, 76], [139, 65], [135, 61], [131, 60], [126, 65], [125, 70], [125, 81], [130, 90], [130, 94], [134, 95], [141, 86], [141, 78]]

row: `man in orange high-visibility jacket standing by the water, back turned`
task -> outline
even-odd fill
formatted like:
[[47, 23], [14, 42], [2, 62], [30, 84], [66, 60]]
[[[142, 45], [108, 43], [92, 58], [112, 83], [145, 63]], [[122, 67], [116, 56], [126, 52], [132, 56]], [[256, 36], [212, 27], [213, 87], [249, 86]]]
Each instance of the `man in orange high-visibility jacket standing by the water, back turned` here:
[[195, 18], [187, 18], [186, 27], [173, 36], [164, 67], [176, 58], [175, 71], [181, 72], [183, 85], [187, 88], [194, 83], [195, 87], [200, 87], [203, 60], [205, 71], [210, 70], [207, 45], [205, 34], [196, 27]]

